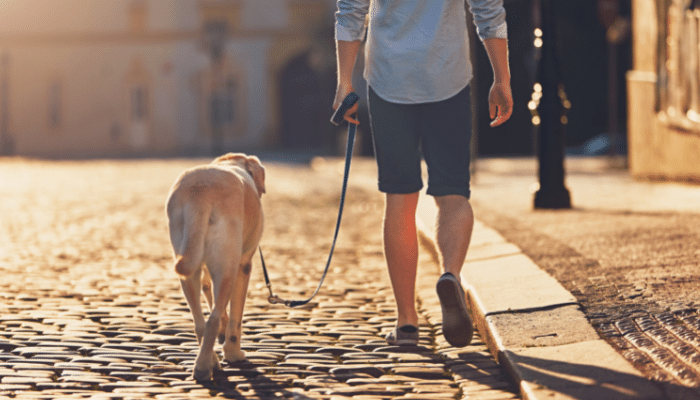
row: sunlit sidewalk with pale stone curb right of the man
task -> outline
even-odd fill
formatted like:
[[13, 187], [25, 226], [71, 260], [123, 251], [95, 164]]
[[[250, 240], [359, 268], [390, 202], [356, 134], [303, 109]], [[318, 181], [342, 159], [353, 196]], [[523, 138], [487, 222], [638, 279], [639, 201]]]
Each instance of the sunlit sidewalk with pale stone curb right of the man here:
[[[685, 243], [682, 250], [656, 252], [655, 269], [644, 268], [649, 238], [634, 234], [649, 233], [650, 218], [697, 223], [700, 187], [635, 182], [604, 158], [569, 159], [567, 171], [574, 209], [533, 211], [534, 160], [480, 161], [472, 202], [477, 218], [497, 230], [477, 222], [462, 273], [479, 332], [523, 398], [697, 398], [688, 389], [697, 387], [693, 374], [700, 367], [697, 307], [667, 307], [678, 297], [695, 299], [697, 288], [676, 285], [681, 290], [659, 294], [652, 283], [659, 269], [675, 278], [697, 276], [700, 228], [654, 226], [662, 240], [654, 248]], [[432, 199], [423, 197], [419, 214], [430, 237], [435, 213]], [[602, 228], [610, 222], [612, 228]], [[624, 246], [618, 243], [623, 235], [631, 236]], [[678, 253], [685, 253], [682, 262]], [[684, 263], [693, 260], [689, 271]], [[633, 295], [631, 276], [639, 289]], [[645, 290], [648, 300], [639, 303]], [[668, 334], [660, 332], [664, 325]]]

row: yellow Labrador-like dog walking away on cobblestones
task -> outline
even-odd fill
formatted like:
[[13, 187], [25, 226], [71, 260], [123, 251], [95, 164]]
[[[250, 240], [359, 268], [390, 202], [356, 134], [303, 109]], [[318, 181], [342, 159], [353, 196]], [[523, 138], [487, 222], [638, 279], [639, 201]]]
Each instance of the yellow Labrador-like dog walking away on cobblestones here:
[[[241, 322], [251, 259], [263, 231], [263, 193], [265, 168], [257, 157], [241, 153], [186, 170], [170, 190], [166, 212], [175, 272], [200, 345], [192, 374], [197, 380], [210, 380], [221, 369], [214, 351], [217, 334], [226, 361], [245, 360]], [[211, 309], [206, 322], [202, 291]]]

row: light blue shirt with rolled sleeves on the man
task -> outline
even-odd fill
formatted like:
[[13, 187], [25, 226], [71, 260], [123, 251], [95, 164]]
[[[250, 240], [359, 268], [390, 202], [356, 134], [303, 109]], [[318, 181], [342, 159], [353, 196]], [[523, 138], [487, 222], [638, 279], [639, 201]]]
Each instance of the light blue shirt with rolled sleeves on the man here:
[[[481, 40], [506, 38], [503, 0], [467, 0]], [[448, 99], [472, 78], [464, 0], [338, 0], [337, 40], [364, 39], [364, 77], [384, 100]]]

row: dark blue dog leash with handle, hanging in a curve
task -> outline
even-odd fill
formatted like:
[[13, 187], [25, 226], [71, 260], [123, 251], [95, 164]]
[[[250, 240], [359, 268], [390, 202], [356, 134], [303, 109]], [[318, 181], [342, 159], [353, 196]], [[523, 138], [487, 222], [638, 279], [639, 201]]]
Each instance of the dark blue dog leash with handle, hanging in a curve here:
[[[357, 101], [360, 99], [360, 97], [355, 94], [355, 93], [350, 93], [348, 96], [343, 100], [341, 105], [338, 107], [338, 109], [335, 111], [333, 114], [333, 117], [331, 118], [331, 122], [335, 125], [339, 125], [343, 121], [343, 117], [345, 116], [345, 113], [353, 106]], [[343, 190], [340, 194], [340, 206], [338, 206], [338, 219], [335, 223], [335, 234], [333, 235], [333, 244], [331, 245], [331, 251], [330, 254], [328, 255], [328, 261], [326, 262], [326, 269], [323, 271], [323, 275], [321, 276], [321, 281], [318, 283], [318, 286], [316, 287], [316, 291], [311, 295], [306, 300], [283, 300], [276, 294], [272, 293], [272, 284], [270, 283], [270, 277], [267, 275], [267, 267], [265, 266], [265, 260], [263, 259], [262, 255], [262, 249], [258, 246], [258, 250], [260, 251], [260, 262], [263, 267], [263, 274], [265, 276], [265, 285], [267, 286], [267, 289], [270, 291], [270, 297], [267, 298], [267, 301], [270, 302], [270, 304], [284, 304], [287, 307], [300, 307], [303, 305], [308, 304], [311, 299], [313, 299], [316, 294], [318, 294], [318, 291], [321, 289], [321, 285], [323, 285], [324, 279], [326, 279], [326, 274], [328, 273], [328, 268], [331, 266], [331, 260], [333, 259], [333, 251], [335, 250], [335, 243], [338, 240], [338, 231], [340, 231], [340, 220], [343, 217], [343, 206], [345, 205], [345, 194], [347, 192], [348, 188], [348, 179], [350, 177], [350, 162], [352, 161], [352, 152], [353, 148], [355, 147], [355, 133], [357, 131], [357, 125], [348, 123], [348, 144], [345, 149], [345, 172], [343, 174]]]

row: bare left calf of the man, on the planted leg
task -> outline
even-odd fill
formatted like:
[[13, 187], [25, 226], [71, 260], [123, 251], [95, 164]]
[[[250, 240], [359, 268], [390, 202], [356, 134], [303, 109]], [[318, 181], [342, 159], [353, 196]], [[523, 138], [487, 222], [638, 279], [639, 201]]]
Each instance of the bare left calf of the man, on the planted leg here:
[[418, 193], [386, 195], [384, 255], [396, 298], [396, 326], [399, 327], [418, 326], [415, 297], [418, 269], [417, 205]]

